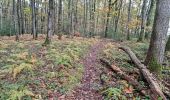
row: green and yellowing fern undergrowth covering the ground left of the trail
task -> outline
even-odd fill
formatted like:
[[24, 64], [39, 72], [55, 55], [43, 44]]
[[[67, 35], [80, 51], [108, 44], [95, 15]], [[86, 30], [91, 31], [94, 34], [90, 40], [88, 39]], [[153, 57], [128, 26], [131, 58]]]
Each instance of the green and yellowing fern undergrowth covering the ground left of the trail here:
[[[94, 39], [0, 41], [0, 100], [45, 100], [79, 85], [81, 59]], [[56, 97], [57, 98], [57, 97]]]

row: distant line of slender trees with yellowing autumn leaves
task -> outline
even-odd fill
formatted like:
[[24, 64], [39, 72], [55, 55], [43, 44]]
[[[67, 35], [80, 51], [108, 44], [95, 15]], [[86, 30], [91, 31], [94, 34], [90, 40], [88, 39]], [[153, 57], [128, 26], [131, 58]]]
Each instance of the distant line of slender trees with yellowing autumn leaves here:
[[155, 8], [155, 0], [1, 0], [0, 34], [36, 39], [47, 33], [52, 12], [53, 35], [79, 32], [143, 41], [150, 37]]

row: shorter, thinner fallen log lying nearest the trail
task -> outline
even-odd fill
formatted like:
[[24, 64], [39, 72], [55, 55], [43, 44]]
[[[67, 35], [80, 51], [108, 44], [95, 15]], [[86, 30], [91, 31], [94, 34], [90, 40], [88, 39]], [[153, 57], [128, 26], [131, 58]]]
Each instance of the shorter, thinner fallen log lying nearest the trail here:
[[146, 95], [144, 91], [144, 87], [140, 85], [140, 83], [130, 76], [128, 76], [125, 72], [123, 72], [119, 67], [115, 65], [111, 65], [107, 60], [100, 59], [102, 64], [105, 64], [109, 69], [113, 70], [119, 77], [126, 80], [128, 83], [130, 83], [133, 87], [135, 87], [142, 95]]

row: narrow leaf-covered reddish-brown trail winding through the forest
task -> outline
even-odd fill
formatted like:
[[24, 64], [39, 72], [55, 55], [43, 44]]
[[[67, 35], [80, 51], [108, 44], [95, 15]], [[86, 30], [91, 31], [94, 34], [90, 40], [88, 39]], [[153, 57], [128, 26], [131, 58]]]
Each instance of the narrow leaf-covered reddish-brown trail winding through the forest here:
[[75, 89], [74, 100], [102, 100], [95, 86], [100, 85], [100, 66], [98, 53], [104, 48], [105, 42], [100, 41], [93, 45], [83, 59], [84, 74], [81, 86]]

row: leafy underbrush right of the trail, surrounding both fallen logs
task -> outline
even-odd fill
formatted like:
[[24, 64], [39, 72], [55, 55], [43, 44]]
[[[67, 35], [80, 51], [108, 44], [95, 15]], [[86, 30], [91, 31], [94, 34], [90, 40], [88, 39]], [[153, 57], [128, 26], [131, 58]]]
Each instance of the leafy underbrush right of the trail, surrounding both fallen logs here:
[[[122, 71], [124, 71], [128, 76], [138, 81], [144, 88], [146, 88], [145, 96], [141, 95], [131, 84], [126, 80], [122, 80], [117, 74], [105, 68], [105, 79], [109, 80], [105, 84], [102, 93], [106, 100], [150, 100], [150, 90], [148, 89], [148, 84], [143, 80], [140, 75], [133, 73], [135, 65], [130, 60], [127, 54], [122, 50], [118, 49], [119, 46], [128, 46], [137, 55], [137, 57], [143, 62], [147, 54], [147, 49], [149, 43], [143, 42], [138, 43], [135, 41], [126, 41], [120, 44], [113, 42], [107, 43], [105, 49], [101, 52], [100, 57], [102, 59], [108, 60], [110, 64], [118, 66]], [[165, 69], [164, 69], [165, 70]], [[112, 77], [110, 77], [112, 76]], [[167, 77], [167, 74], [163, 74], [163, 77]], [[106, 81], [106, 80], [105, 80]], [[113, 83], [114, 82], [114, 83]]]

